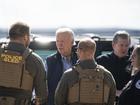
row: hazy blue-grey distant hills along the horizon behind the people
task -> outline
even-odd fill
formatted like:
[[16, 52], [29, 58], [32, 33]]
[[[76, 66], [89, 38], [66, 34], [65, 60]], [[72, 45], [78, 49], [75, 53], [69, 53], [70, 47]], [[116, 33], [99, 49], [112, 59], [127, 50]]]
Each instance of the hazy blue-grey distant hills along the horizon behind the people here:
[[[82, 35], [86, 33], [94, 33], [99, 34], [100, 36], [112, 36], [118, 30], [126, 30], [130, 33], [131, 36], [140, 36], [140, 30], [138, 29], [127, 29], [127, 28], [74, 28], [73, 29], [76, 35]], [[38, 35], [55, 35], [55, 28], [48, 28], [48, 29], [32, 29], [32, 34]], [[7, 37], [8, 30], [7, 29], [0, 29], [0, 37]]]

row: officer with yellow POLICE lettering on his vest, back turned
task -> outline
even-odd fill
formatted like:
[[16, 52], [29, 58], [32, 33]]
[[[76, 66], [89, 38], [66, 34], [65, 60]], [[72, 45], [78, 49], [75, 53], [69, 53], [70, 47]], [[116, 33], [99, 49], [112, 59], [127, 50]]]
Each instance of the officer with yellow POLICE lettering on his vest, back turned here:
[[46, 105], [46, 77], [42, 59], [32, 52], [29, 26], [15, 23], [10, 42], [0, 48], [0, 105], [30, 105], [35, 90], [36, 103]]

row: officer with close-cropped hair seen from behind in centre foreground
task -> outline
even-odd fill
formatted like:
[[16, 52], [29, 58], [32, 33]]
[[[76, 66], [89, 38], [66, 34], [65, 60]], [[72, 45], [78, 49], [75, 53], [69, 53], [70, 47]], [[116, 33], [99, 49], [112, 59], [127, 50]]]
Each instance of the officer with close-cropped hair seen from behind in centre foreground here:
[[114, 78], [95, 62], [95, 50], [94, 40], [84, 38], [79, 42], [78, 63], [64, 72], [55, 92], [56, 105], [114, 105]]

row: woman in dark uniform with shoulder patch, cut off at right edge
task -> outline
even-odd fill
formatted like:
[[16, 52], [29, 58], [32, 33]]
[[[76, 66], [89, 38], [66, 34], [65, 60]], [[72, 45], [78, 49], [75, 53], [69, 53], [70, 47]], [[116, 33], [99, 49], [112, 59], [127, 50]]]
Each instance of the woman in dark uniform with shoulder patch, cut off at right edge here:
[[131, 65], [133, 66], [132, 79], [123, 89], [119, 105], [140, 105], [140, 45], [137, 45], [132, 52]]

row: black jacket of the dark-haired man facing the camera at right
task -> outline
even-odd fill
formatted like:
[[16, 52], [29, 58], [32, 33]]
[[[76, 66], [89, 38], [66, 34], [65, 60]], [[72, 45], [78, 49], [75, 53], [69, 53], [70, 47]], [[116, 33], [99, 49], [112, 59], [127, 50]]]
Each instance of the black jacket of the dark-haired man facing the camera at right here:
[[131, 71], [128, 70], [130, 66], [129, 56], [119, 58], [112, 52], [97, 57], [96, 61], [112, 73], [116, 81], [117, 90], [123, 89], [131, 79]]

